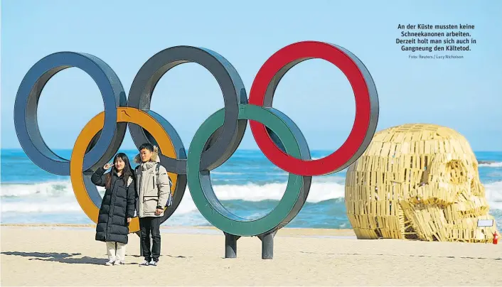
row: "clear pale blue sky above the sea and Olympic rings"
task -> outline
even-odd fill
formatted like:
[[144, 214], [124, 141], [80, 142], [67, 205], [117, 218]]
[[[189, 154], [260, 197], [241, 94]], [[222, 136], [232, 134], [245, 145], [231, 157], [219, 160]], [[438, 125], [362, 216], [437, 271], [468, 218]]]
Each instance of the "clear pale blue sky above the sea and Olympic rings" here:
[[[350, 50], [365, 64], [380, 99], [378, 130], [426, 122], [464, 134], [475, 151], [502, 150], [502, 1], [1, 1], [1, 147], [20, 147], [14, 99], [30, 67], [63, 50], [97, 56], [126, 92], [152, 55], [174, 45], [209, 48], [237, 69], [249, 94], [270, 55], [301, 40]], [[411, 60], [395, 39], [398, 24], [473, 24], [476, 45], [461, 60]], [[355, 116], [348, 80], [324, 60], [294, 67], [274, 107], [293, 119], [311, 149], [334, 151]], [[157, 85], [151, 109], [178, 130], [188, 148], [223, 97], [203, 67], [175, 67]], [[92, 79], [77, 68], [48, 82], [38, 124], [50, 148], [72, 148], [103, 109]], [[122, 148], [134, 148], [127, 133]], [[240, 148], [257, 148], [249, 127]]]

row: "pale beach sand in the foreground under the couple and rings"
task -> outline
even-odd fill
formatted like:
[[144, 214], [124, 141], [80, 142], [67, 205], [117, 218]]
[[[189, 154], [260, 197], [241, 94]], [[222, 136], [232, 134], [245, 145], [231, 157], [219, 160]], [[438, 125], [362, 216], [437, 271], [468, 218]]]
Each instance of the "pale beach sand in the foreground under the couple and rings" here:
[[1, 286], [502, 286], [502, 244], [358, 240], [351, 230], [281, 229], [274, 259], [256, 237], [224, 259], [213, 228], [162, 228], [159, 266], [105, 266], [90, 226], [1, 226]]

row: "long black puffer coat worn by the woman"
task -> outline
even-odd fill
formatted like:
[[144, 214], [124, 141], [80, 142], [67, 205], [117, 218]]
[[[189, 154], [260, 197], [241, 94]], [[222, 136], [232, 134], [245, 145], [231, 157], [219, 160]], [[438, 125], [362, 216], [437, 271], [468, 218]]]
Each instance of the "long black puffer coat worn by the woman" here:
[[[112, 185], [107, 188], [101, 202], [100, 215], [97, 217], [96, 240], [102, 242], [120, 242], [127, 244], [129, 223], [127, 217], [134, 217], [134, 199], [136, 197], [136, 185], [134, 175], [124, 183], [123, 177], [117, 177], [113, 172]], [[92, 174], [92, 183], [105, 186], [107, 180], [104, 168], [99, 168]]]

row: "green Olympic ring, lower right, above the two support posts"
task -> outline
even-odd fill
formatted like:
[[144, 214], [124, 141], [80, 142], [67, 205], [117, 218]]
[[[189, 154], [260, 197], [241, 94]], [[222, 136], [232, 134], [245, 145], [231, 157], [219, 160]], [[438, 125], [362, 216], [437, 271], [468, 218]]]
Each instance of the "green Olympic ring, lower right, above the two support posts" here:
[[[201, 161], [199, 160], [210, 136], [223, 126], [224, 113], [224, 109], [220, 109], [206, 119], [196, 131], [188, 149], [188, 188], [193, 202], [206, 220], [229, 234], [255, 236], [277, 230], [286, 225], [301, 210], [309, 194], [312, 177], [289, 173], [286, 191], [277, 207], [257, 220], [247, 220], [228, 211], [213, 191], [209, 170], [200, 170]], [[306, 141], [298, 126], [276, 109], [240, 104], [238, 118], [260, 121], [279, 137], [287, 154], [302, 160], [310, 159], [309, 151], [301, 148], [301, 146], [306, 146], [301, 145]]]

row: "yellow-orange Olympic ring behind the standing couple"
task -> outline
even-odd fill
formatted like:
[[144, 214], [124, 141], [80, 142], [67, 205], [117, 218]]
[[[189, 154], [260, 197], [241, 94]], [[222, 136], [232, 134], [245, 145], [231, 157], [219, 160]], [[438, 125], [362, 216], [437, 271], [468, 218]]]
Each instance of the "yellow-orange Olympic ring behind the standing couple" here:
[[[173, 146], [171, 138], [164, 131], [161, 124], [156, 119], [151, 117], [146, 112], [132, 107], [118, 107], [117, 108], [117, 123], [127, 122], [137, 124], [148, 131], [151, 136], [159, 143], [159, 150], [162, 151], [164, 156], [176, 158], [176, 149]], [[83, 177], [83, 164], [84, 156], [87, 146], [89, 146], [92, 138], [103, 128], [105, 124], [105, 112], [101, 112], [93, 117], [80, 131], [73, 152], [70, 158], [70, 180], [73, 187], [73, 193], [77, 198], [78, 204], [82, 207], [87, 217], [97, 224], [97, 217], [100, 209], [92, 202], [84, 184]], [[171, 186], [171, 193], [174, 193], [178, 175], [176, 173], [168, 173], [171, 177], [173, 185]], [[139, 219], [134, 217], [129, 224], [129, 232], [139, 231]]]

